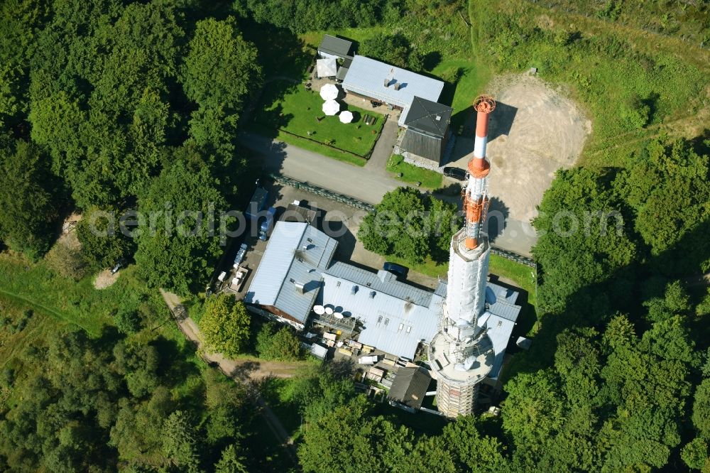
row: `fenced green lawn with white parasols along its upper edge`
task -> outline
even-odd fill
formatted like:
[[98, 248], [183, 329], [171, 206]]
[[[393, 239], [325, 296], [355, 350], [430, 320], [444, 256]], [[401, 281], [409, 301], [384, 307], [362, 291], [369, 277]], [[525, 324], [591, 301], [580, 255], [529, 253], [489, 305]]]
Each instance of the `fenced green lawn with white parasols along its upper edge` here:
[[[288, 142], [289, 134], [295, 135], [292, 137], [299, 140], [295, 143], [297, 146], [311, 143], [317, 152], [324, 154], [328, 149], [331, 151], [328, 156], [332, 156], [332, 152], [337, 158], [348, 156], [336, 148], [356, 155], [349, 155], [352, 158], [368, 156], [380, 136], [383, 116], [341, 102], [341, 110], [349, 110], [354, 115], [352, 123], [342, 124], [338, 116], [326, 116], [322, 105], [323, 99], [318, 92], [306, 90], [301, 84], [275, 80], [266, 85], [254, 121], [280, 131], [278, 138], [285, 138], [284, 141]], [[374, 124], [364, 123], [366, 114], [375, 117]], [[308, 136], [309, 132], [311, 136]]]

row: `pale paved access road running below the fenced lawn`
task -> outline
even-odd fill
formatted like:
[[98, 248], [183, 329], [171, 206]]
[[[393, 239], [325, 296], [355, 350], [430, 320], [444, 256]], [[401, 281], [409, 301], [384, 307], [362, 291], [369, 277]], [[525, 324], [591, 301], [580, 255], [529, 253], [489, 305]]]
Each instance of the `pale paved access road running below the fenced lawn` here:
[[[385, 127], [389, 135], [396, 136], [396, 123], [392, 119], [387, 121]], [[258, 153], [252, 159], [261, 159], [263, 165], [272, 172], [350, 195], [373, 205], [378, 204], [386, 192], [405, 185], [391, 177], [385, 169], [386, 158], [383, 161], [381, 156], [361, 168], [250, 132], [242, 133], [240, 140], [244, 146]], [[391, 138], [388, 141], [391, 141]], [[380, 150], [376, 147], [376, 151]], [[378, 153], [378, 156], [379, 154], [382, 153]], [[530, 248], [535, 241], [537, 237], [533, 234], [530, 224], [508, 218], [506, 227], [493, 244], [530, 256]]]

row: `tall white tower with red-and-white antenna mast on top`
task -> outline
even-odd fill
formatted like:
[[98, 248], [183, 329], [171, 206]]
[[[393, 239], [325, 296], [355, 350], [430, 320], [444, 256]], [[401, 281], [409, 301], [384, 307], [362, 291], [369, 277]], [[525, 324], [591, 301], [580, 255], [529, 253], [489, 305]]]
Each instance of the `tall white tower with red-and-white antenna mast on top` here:
[[437, 407], [449, 418], [474, 411], [479, 383], [493, 367], [493, 344], [484, 328], [490, 316], [485, 303], [491, 248], [482, 230], [491, 169], [486, 161], [488, 115], [496, 109], [496, 102], [481, 95], [476, 98], [474, 109], [474, 157], [469, 161], [462, 192], [466, 222], [454, 234], [449, 247], [447, 298], [439, 332], [429, 346], [429, 363], [437, 377]]

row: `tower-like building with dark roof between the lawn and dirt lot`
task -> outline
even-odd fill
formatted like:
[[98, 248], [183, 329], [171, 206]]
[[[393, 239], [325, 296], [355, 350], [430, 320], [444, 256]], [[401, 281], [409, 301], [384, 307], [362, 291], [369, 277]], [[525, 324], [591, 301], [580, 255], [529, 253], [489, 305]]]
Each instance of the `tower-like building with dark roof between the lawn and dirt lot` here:
[[407, 127], [402, 140], [403, 150], [439, 165], [449, 140], [452, 112], [452, 108], [446, 105], [414, 97], [402, 120]]

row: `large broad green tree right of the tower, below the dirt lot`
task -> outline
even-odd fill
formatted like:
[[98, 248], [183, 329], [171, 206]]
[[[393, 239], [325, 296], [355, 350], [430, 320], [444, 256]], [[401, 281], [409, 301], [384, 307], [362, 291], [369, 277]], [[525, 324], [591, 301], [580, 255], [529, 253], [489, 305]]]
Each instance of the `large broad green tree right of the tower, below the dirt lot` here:
[[[570, 295], [604, 281], [637, 258], [630, 225], [624, 224], [624, 212], [619, 211], [624, 209], [623, 201], [612, 178], [606, 171], [589, 168], [559, 170], [545, 191], [539, 214], [532, 221], [540, 234], [532, 254], [545, 274], [539, 293], [545, 310], [562, 310]], [[621, 282], [608, 293], [623, 294], [626, 286]], [[592, 295], [606, 294], [596, 291]]]

